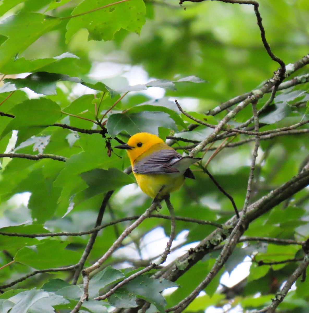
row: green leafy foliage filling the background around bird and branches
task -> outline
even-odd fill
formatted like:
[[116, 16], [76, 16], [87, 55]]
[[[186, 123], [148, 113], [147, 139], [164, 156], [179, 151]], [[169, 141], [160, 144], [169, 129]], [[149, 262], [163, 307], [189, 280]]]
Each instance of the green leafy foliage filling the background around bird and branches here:
[[[163, 139], [171, 135], [178, 137], [173, 147], [186, 154], [192, 143], [202, 141], [212, 130], [201, 125], [190, 128], [192, 121], [180, 114], [172, 100], [179, 100], [195, 118], [216, 125], [226, 111], [205, 115], [209, 110], [257, 89], [278, 67], [263, 47], [250, 5], [219, 1], [179, 5], [173, 0], [130, 0], [98, 9], [110, 3], [107, 0], [0, 1], [0, 73], [4, 75], [0, 86], [0, 110], [4, 113], [0, 116], [0, 153], [56, 156], [37, 161], [18, 157], [0, 159], [2, 232], [87, 231], [94, 227], [102, 199], [111, 189], [115, 192], [106, 208], [104, 224], [144, 213], [151, 199], [132, 184], [132, 174], [121, 172], [129, 166], [129, 160], [125, 151], [113, 151], [113, 146], [121, 140], [127, 141], [136, 132], [149, 131]], [[286, 64], [308, 54], [309, 2], [260, 0], [259, 4], [272, 51]], [[308, 68], [304, 67], [292, 77], [306, 73]], [[308, 86], [305, 80], [277, 92], [274, 102], [261, 115], [261, 131], [308, 119]], [[266, 100], [264, 96], [259, 101], [258, 109]], [[237, 126], [251, 116], [248, 106], [230, 121], [230, 126]], [[98, 126], [101, 122], [103, 130]], [[71, 129], [59, 124], [69, 125]], [[300, 128], [307, 130], [308, 124]], [[231, 141], [234, 147], [220, 151], [208, 166], [219, 184], [233, 196], [237, 208], [242, 208], [246, 196], [253, 145], [252, 142], [236, 144], [246, 138], [243, 134], [236, 136]], [[308, 133], [261, 141], [251, 203], [301, 170], [308, 162], [308, 142]], [[203, 164], [212, 153], [211, 149], [200, 153]], [[192, 170], [196, 179], [187, 179], [171, 195], [175, 214], [225, 223], [234, 215], [229, 199], [196, 165]], [[168, 215], [165, 205], [160, 213]], [[304, 240], [309, 236], [308, 216], [309, 197], [305, 188], [254, 220], [245, 235]], [[130, 223], [124, 221], [102, 229], [85, 265], [99, 259]], [[210, 225], [176, 221], [180, 248], [172, 252], [168, 262], [214, 229]], [[127, 236], [104, 269], [90, 280], [90, 297], [109, 290], [136, 271], [142, 266], [137, 261], [159, 256], [167, 241], [166, 236], [160, 238], [162, 230], [169, 235], [169, 220], [148, 218]], [[1, 285], [34, 270], [77, 263], [89, 236], [47, 239], [0, 235]], [[297, 262], [262, 266], [258, 262], [302, 255], [299, 245], [240, 243], [205, 288], [205, 294], [186, 310], [205, 311], [226, 305], [229, 308], [240, 305], [244, 310], [261, 309], [271, 303]], [[217, 256], [218, 251], [207, 254], [176, 283], [155, 280], [149, 273], [139, 276], [117, 290], [108, 302], [90, 299], [80, 312], [105, 313], [113, 306], [136, 307], [136, 298], [152, 303], [149, 313], [164, 312], [166, 305], [176, 305], [195, 289]], [[224, 291], [221, 276], [225, 271], [231, 273], [246, 256], [252, 260], [250, 274], [237, 290], [232, 287]], [[0, 311], [72, 310], [82, 295], [81, 280], [78, 285], [71, 285], [73, 272], [72, 269], [44, 272], [3, 288]], [[297, 280], [296, 290], [288, 293], [278, 311], [306, 312], [308, 284], [308, 278], [305, 282]], [[163, 293], [164, 298], [162, 290], [170, 287], [176, 288], [170, 294]]]

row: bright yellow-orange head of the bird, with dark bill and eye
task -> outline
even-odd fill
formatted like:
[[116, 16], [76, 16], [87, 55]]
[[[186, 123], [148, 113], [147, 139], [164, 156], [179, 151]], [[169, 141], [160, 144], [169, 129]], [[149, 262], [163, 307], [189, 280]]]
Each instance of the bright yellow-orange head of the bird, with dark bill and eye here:
[[156, 135], [137, 133], [130, 137], [127, 144], [116, 146], [115, 148], [126, 149], [131, 164], [133, 164], [142, 153], [158, 143], [164, 143], [164, 141]]

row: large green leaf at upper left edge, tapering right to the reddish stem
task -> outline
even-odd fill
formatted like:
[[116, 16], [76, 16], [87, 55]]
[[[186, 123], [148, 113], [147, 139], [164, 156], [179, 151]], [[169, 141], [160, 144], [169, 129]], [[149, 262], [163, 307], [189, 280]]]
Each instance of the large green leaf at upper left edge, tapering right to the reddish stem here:
[[60, 23], [59, 18], [40, 13], [19, 13], [0, 24], [0, 33], [8, 39], [0, 46], [0, 68], [44, 33]]

